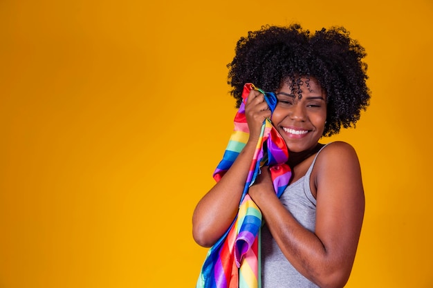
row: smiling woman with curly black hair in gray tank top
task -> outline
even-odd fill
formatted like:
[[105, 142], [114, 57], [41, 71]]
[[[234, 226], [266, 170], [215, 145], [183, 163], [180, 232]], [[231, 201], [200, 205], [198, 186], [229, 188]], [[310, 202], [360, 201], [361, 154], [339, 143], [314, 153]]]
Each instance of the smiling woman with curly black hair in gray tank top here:
[[291, 180], [280, 198], [268, 166], [248, 194], [259, 207], [262, 287], [343, 287], [351, 273], [365, 209], [360, 164], [345, 142], [320, 144], [340, 128], [354, 126], [369, 104], [365, 50], [344, 28], [315, 33], [299, 25], [267, 26], [242, 37], [228, 65], [237, 105], [246, 83], [248, 142], [193, 215], [194, 240], [211, 247], [238, 213], [264, 119], [288, 148]]

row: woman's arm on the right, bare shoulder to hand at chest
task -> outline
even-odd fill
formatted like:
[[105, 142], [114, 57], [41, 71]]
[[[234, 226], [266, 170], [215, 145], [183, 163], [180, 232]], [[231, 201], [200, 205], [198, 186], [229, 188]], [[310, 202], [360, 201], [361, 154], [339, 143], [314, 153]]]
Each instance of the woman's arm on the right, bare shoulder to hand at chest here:
[[[266, 169], [268, 171], [268, 169]], [[317, 189], [315, 233], [279, 202], [268, 172], [250, 187], [273, 238], [302, 275], [320, 287], [343, 287], [358, 246], [365, 198], [354, 149], [335, 142], [317, 156], [311, 175]]]

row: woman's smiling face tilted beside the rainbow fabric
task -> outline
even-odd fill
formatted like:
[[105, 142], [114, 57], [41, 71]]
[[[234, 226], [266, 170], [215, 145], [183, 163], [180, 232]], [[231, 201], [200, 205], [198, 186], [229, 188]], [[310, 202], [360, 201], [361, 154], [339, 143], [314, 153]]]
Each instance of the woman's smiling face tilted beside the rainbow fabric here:
[[326, 93], [313, 77], [302, 77], [299, 89], [283, 83], [277, 90], [272, 122], [293, 153], [310, 151], [317, 145], [326, 121]]

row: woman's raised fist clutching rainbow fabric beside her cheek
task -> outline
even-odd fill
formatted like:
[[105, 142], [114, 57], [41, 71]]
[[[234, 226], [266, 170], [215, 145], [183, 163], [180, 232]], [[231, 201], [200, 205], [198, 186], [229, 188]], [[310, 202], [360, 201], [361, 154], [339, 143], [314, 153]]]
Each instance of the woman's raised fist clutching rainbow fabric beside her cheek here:
[[270, 109], [263, 93], [251, 90], [245, 105], [245, 116], [250, 128], [250, 141], [257, 141], [260, 137], [261, 125], [266, 117], [270, 117]]

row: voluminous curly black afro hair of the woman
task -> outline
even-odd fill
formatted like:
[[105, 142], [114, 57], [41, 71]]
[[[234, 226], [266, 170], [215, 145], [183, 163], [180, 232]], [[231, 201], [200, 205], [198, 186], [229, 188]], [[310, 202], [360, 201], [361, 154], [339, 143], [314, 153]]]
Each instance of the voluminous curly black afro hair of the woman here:
[[367, 55], [343, 27], [322, 28], [312, 34], [299, 24], [264, 26], [248, 32], [237, 42], [230, 64], [231, 95], [242, 102], [243, 85], [253, 83], [265, 91], [276, 91], [283, 81], [299, 83], [314, 77], [326, 91], [327, 115], [324, 136], [355, 126], [360, 112], [369, 105]]

